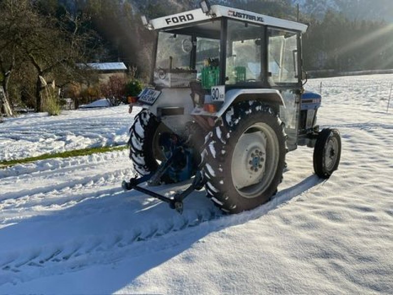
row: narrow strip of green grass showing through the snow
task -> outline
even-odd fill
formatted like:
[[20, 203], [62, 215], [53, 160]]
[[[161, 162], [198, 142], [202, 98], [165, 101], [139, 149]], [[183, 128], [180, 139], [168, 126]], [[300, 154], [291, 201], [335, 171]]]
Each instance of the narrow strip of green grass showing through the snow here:
[[128, 146], [117, 146], [117, 147], [99, 147], [99, 148], [83, 148], [83, 149], [74, 149], [69, 151], [63, 151], [59, 153], [53, 154], [43, 154], [36, 157], [29, 157], [23, 159], [16, 159], [16, 160], [8, 160], [8, 161], [0, 161], [0, 168], [10, 167], [17, 164], [26, 164], [38, 160], [46, 160], [46, 159], [53, 159], [53, 158], [68, 158], [68, 157], [77, 157], [77, 156], [88, 156], [94, 153], [102, 153], [108, 151], [115, 151], [115, 150], [123, 150], [128, 148]]

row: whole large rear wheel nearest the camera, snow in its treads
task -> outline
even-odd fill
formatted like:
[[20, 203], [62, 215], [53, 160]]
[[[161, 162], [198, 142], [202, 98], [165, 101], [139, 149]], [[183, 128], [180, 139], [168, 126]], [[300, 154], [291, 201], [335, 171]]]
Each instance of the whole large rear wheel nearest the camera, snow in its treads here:
[[283, 127], [260, 102], [241, 102], [225, 112], [202, 153], [206, 193], [216, 206], [238, 213], [276, 193], [285, 165]]

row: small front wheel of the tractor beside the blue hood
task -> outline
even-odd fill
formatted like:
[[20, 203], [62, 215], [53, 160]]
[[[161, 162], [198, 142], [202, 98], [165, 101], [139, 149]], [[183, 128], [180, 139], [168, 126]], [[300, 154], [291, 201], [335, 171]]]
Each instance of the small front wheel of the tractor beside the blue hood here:
[[341, 137], [337, 129], [323, 129], [315, 143], [313, 164], [315, 174], [329, 178], [338, 168], [341, 157]]

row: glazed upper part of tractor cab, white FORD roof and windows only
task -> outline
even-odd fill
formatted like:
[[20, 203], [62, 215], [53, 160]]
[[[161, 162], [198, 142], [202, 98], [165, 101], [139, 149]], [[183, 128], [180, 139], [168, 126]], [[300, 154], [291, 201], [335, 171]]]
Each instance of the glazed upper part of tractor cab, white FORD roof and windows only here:
[[149, 24], [158, 30], [154, 85], [189, 87], [186, 81], [197, 79], [209, 91], [218, 85], [301, 87], [306, 25], [219, 5], [207, 14], [196, 9]]

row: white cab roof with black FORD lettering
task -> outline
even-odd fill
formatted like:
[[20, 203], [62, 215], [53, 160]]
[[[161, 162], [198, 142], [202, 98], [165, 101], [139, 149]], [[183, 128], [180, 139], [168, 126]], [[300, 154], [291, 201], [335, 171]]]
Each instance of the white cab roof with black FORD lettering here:
[[151, 26], [149, 26], [148, 28], [157, 30], [166, 28], [170, 29], [173, 27], [190, 25], [192, 23], [212, 20], [221, 17], [301, 32], [306, 32], [308, 28], [308, 26], [305, 24], [287, 21], [242, 9], [225, 7], [222, 5], [212, 5], [210, 9], [210, 14], [203, 13], [202, 9], [199, 8], [156, 18], [149, 22], [149, 25]]

